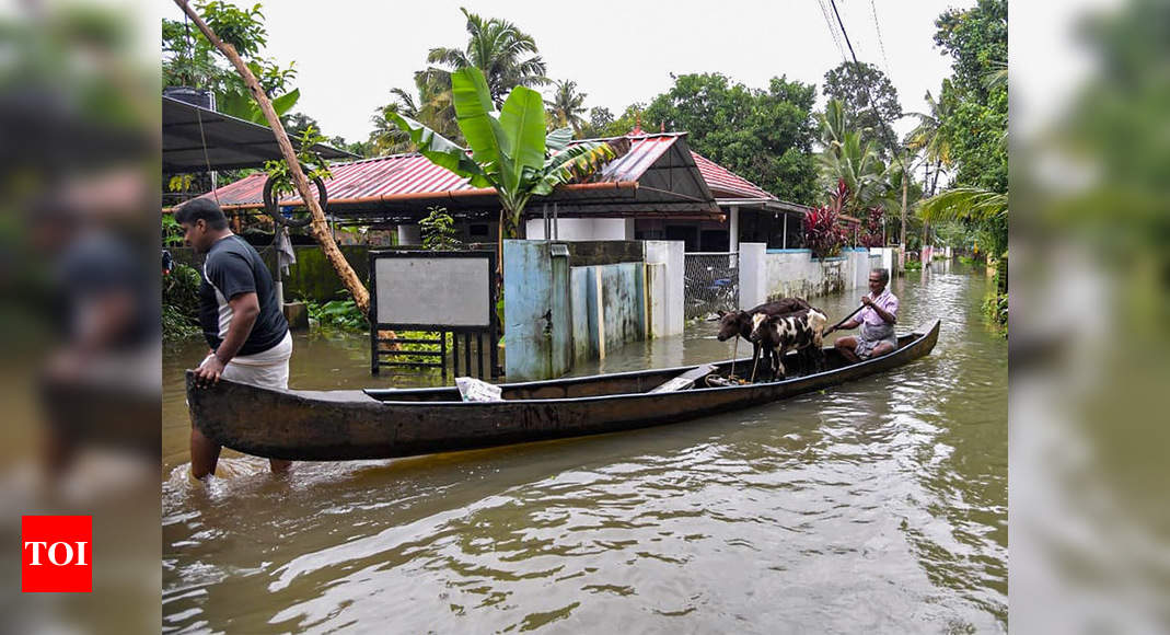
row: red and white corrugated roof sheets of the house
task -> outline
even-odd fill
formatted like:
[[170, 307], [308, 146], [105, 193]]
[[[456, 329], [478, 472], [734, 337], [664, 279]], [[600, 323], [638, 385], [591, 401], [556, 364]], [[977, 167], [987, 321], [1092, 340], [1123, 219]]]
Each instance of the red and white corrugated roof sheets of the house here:
[[[606, 165], [600, 173], [590, 179], [592, 182], [636, 181], [670, 147], [682, 138], [680, 133], [660, 133], [631, 137], [631, 149], [627, 154]], [[732, 174], [715, 163], [691, 152], [695, 164], [709, 188], [720, 198], [775, 199], [768, 192], [750, 181]], [[344, 205], [347, 201], [367, 200], [377, 196], [420, 196], [428, 193], [441, 196], [447, 192], [473, 191], [467, 179], [460, 178], [446, 168], [432, 164], [421, 154], [395, 154], [376, 159], [364, 159], [330, 167], [333, 173], [325, 181], [330, 203]], [[262, 192], [266, 174], [256, 173], [216, 191], [221, 206], [259, 207], [262, 205]], [[572, 186], [570, 186], [572, 187]], [[484, 194], [491, 188], [480, 189]], [[205, 196], [212, 196], [211, 193]], [[298, 196], [283, 200], [291, 202]]]

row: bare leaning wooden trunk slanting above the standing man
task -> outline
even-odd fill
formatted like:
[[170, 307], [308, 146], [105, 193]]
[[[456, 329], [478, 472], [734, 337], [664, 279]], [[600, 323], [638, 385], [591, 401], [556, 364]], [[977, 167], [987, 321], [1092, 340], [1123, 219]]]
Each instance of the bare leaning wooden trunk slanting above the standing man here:
[[312, 215], [312, 223], [309, 228], [312, 232], [312, 237], [317, 240], [321, 244], [321, 250], [325, 254], [325, 258], [337, 271], [338, 277], [342, 278], [342, 284], [350, 291], [353, 296], [353, 303], [357, 305], [358, 310], [366, 315], [366, 317], [373, 323], [373, 318], [370, 317], [370, 291], [366, 289], [365, 284], [358, 278], [358, 275], [353, 272], [353, 268], [342, 255], [342, 250], [337, 248], [337, 243], [333, 241], [333, 236], [329, 232], [329, 225], [325, 222], [325, 212], [321, 208], [321, 203], [317, 202], [317, 198], [312, 195], [309, 191], [309, 179], [305, 178], [304, 172], [301, 170], [301, 164], [297, 161], [296, 152], [292, 150], [292, 143], [289, 142], [288, 133], [284, 132], [284, 126], [281, 125], [281, 119], [276, 115], [276, 110], [273, 109], [273, 102], [264, 94], [264, 90], [260, 88], [260, 82], [256, 81], [256, 76], [252, 74], [248, 69], [248, 64], [243, 63], [243, 58], [236, 53], [235, 47], [223, 42], [212, 32], [211, 27], [204, 22], [202, 18], [195, 13], [195, 9], [187, 5], [187, 0], [174, 0], [174, 4], [187, 14], [188, 18], [199, 27], [199, 30], [207, 36], [207, 41], [212, 43], [220, 53], [222, 53], [232, 65], [235, 67], [236, 73], [243, 78], [243, 83], [248, 87], [252, 92], [252, 98], [256, 101], [260, 105], [260, 110], [264, 112], [264, 118], [268, 119], [268, 125], [273, 127], [273, 132], [276, 134], [276, 143], [281, 146], [281, 154], [284, 157], [284, 161], [289, 165], [289, 172], [292, 174], [292, 182], [296, 185], [296, 191], [301, 194], [301, 199], [304, 201], [305, 206], [309, 207], [309, 213]]

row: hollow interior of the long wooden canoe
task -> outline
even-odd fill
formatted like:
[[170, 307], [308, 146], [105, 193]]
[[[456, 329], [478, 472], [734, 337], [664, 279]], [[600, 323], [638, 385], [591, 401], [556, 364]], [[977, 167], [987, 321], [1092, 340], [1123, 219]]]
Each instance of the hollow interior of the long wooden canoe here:
[[[906, 346], [921, 334], [899, 337], [899, 348]], [[819, 372], [828, 372], [848, 366], [849, 363], [833, 347], [823, 348], [824, 363]], [[800, 354], [790, 351], [784, 356], [784, 379], [796, 379], [818, 372], [815, 356]], [[734, 367], [734, 374], [732, 374]], [[707, 372], [696, 368], [706, 370]], [[698, 377], [681, 377], [698, 375]], [[601, 375], [576, 377], [532, 381], [523, 384], [501, 384], [503, 401], [526, 399], [572, 399], [583, 396], [604, 396], [618, 394], [636, 394], [648, 392], [673, 392], [680, 389], [734, 387], [750, 385], [752, 377], [751, 357], [710, 364], [708, 368], [686, 366], [680, 368], [659, 368], [628, 373], [611, 373]], [[672, 380], [680, 379], [670, 384]], [[756, 371], [756, 382], [771, 381], [770, 373], [763, 364]], [[366, 395], [378, 401], [462, 401], [459, 388], [454, 386], [440, 388], [370, 388]]]

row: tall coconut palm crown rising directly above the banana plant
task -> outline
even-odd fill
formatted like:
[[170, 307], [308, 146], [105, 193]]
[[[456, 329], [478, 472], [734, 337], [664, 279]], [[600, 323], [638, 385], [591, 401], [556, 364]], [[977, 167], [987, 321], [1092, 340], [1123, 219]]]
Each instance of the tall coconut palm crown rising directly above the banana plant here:
[[467, 33], [470, 39], [463, 49], [439, 47], [427, 54], [427, 62], [439, 64], [425, 73], [446, 74], [446, 83], [450, 84], [450, 73], [464, 68], [477, 68], [488, 82], [488, 92], [496, 108], [501, 108], [504, 97], [515, 87], [538, 87], [549, 83], [544, 76], [544, 60], [537, 54], [536, 40], [519, 30], [516, 25], [490, 18], [484, 20], [477, 14], [460, 8], [467, 18]]

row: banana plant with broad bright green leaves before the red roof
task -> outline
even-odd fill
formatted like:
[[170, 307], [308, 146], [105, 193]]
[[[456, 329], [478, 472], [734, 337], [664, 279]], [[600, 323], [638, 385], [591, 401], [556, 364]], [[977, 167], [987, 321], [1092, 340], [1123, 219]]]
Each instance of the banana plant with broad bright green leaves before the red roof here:
[[532, 196], [548, 195], [559, 185], [586, 179], [629, 152], [629, 139], [625, 137], [570, 146], [571, 129], [545, 132], [544, 101], [530, 88], [514, 88], [496, 113], [483, 73], [474, 67], [452, 74], [452, 95], [468, 149], [401, 113], [387, 116], [433, 164], [469, 179], [475, 187], [496, 189], [502, 207], [501, 247], [505, 233], [516, 236]]

